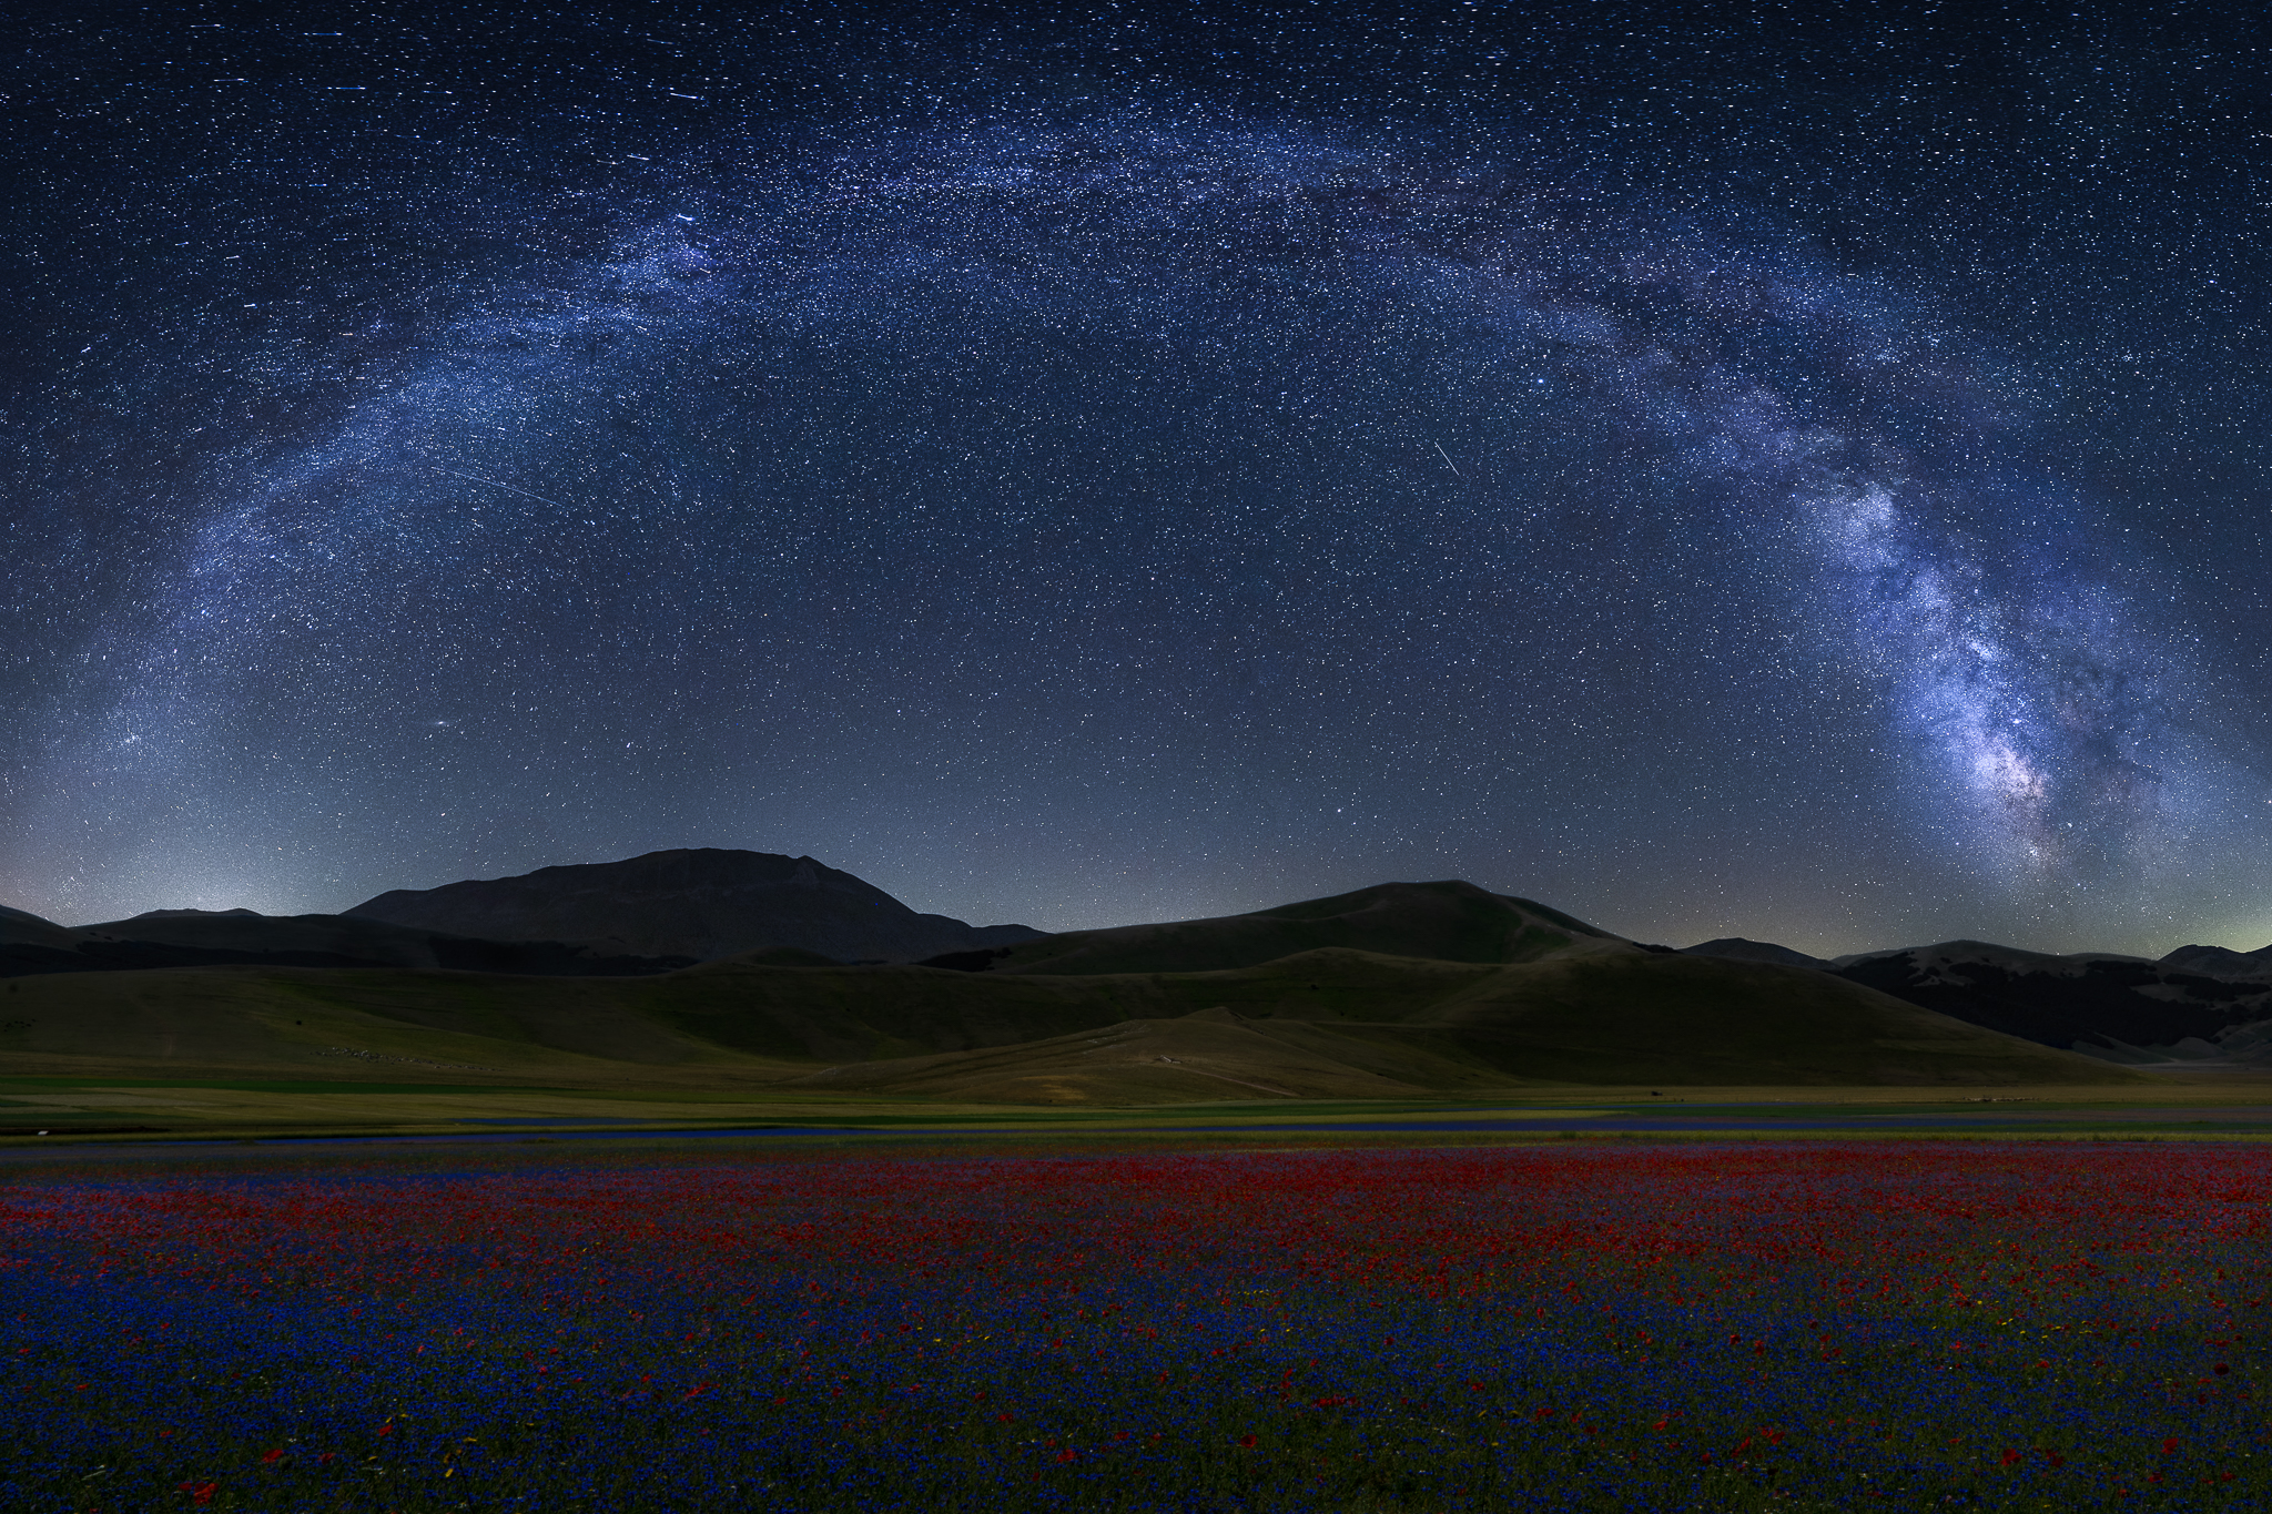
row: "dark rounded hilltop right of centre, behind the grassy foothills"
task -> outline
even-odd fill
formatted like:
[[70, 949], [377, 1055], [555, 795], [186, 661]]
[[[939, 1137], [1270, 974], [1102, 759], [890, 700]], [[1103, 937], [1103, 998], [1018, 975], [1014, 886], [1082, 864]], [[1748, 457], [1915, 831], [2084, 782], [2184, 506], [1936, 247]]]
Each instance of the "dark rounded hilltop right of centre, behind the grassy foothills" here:
[[1002, 974], [1220, 972], [1322, 947], [1438, 962], [1536, 962], [1568, 953], [1640, 951], [1622, 935], [1475, 883], [1379, 883], [1252, 915], [1066, 931], [986, 951], [957, 951], [927, 965]]

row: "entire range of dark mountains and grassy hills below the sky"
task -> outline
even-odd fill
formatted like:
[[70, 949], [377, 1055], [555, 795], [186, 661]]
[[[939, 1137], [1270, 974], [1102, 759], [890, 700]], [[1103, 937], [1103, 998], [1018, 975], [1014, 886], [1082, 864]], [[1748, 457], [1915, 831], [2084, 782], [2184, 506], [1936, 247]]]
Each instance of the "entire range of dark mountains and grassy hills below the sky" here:
[[[813, 858], [718, 849], [395, 890], [343, 915], [73, 928], [0, 908], [0, 1053], [43, 1062], [352, 1053], [568, 1076], [561, 1058], [629, 1058], [1041, 1103], [2272, 1062], [2272, 947], [2158, 962], [1986, 942], [1674, 951], [1459, 881], [1050, 935], [922, 915]], [[352, 1028], [361, 1051], [309, 1049], [314, 1024]]]

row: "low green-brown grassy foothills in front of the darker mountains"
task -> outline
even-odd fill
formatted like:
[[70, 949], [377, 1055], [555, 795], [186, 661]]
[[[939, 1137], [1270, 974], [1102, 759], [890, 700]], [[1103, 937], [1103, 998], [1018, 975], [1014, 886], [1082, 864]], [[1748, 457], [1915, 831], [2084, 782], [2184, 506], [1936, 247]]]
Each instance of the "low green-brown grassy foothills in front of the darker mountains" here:
[[[1477, 890], [1479, 892], [1479, 890]], [[1300, 924], [1300, 917], [1297, 917]], [[968, 974], [707, 962], [654, 978], [193, 967], [14, 978], [16, 1076], [786, 1085], [1172, 1103], [1525, 1083], [2131, 1083], [1815, 972], [1593, 951], [1534, 962], [1347, 947], [1218, 972]], [[1020, 1092], [1022, 1090], [1022, 1092]]]

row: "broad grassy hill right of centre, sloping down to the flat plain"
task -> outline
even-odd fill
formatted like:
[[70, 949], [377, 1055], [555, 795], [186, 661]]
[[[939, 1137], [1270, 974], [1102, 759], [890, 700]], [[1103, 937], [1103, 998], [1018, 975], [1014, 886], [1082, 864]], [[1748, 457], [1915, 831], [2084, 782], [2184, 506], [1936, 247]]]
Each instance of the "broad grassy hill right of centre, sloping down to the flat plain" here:
[[1765, 962], [1595, 953], [1468, 967], [1313, 951], [1259, 969], [1054, 983], [1118, 985], [1122, 994], [1145, 985], [1163, 999], [1216, 1003], [1179, 1019], [1131, 1017], [984, 1051], [866, 1062], [813, 1083], [966, 1101], [1154, 1103], [1220, 1099], [1229, 1087], [1386, 1099], [1527, 1083], [2133, 1080], [1840, 978]]

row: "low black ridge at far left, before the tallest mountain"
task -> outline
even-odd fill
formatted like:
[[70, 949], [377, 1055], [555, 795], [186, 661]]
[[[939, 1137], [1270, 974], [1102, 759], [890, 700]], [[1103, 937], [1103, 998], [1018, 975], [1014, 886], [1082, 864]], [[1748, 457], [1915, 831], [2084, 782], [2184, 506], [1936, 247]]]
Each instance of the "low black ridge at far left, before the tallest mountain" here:
[[691, 967], [570, 942], [486, 942], [343, 915], [150, 910], [95, 926], [59, 926], [0, 910], [0, 978], [145, 967], [445, 967], [548, 978], [625, 978]]

